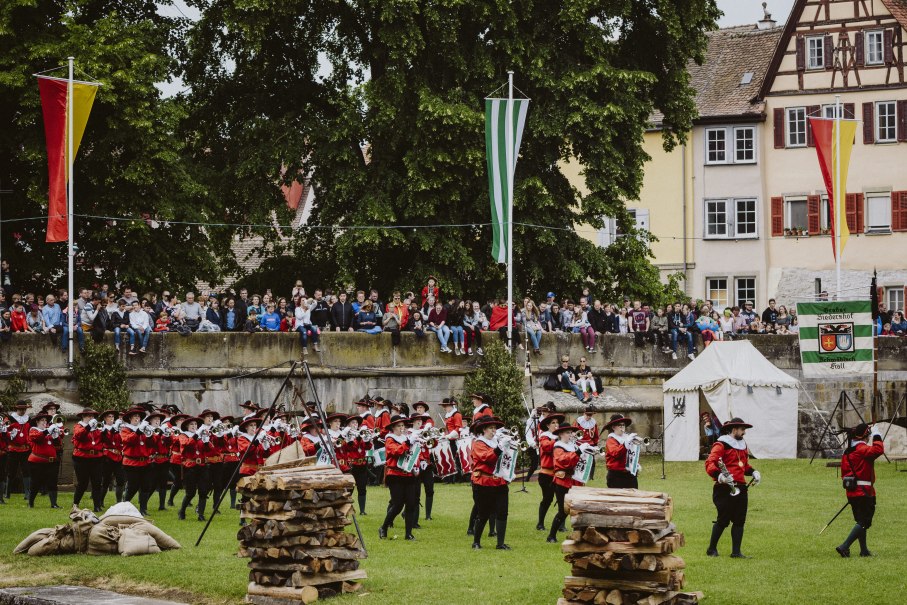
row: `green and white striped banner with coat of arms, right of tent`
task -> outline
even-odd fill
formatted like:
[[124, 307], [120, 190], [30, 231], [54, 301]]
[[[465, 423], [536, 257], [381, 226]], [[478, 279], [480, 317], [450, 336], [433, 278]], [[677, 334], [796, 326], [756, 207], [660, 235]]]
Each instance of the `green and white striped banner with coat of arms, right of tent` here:
[[868, 300], [797, 303], [804, 376], [872, 374]]

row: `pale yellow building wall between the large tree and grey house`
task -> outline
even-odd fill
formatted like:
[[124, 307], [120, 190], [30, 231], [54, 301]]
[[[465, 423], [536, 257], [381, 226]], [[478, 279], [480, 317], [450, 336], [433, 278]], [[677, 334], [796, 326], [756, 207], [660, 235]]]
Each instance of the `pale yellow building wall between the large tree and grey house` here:
[[[639, 199], [627, 201], [626, 206], [649, 211], [649, 231], [658, 238], [652, 244], [653, 262], [662, 269], [664, 276], [681, 271], [684, 261], [689, 267], [693, 265], [693, 246], [689, 239], [693, 234], [692, 150], [689, 145], [683, 145], [675, 147], [670, 153], [666, 152], [662, 147], [661, 131], [657, 130], [645, 133], [643, 149], [651, 159], [643, 167]], [[583, 195], [588, 193], [582, 166], [578, 162], [562, 163], [561, 171]], [[576, 231], [591, 242], [599, 242], [598, 231], [588, 225], [580, 225]]]

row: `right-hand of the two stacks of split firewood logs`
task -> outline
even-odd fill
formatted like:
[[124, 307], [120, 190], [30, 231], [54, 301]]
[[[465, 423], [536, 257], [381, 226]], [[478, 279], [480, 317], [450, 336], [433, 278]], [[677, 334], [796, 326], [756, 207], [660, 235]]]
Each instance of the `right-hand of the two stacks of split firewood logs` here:
[[683, 534], [671, 523], [668, 494], [574, 487], [565, 506], [573, 532], [561, 544], [571, 573], [558, 605], [686, 605]]

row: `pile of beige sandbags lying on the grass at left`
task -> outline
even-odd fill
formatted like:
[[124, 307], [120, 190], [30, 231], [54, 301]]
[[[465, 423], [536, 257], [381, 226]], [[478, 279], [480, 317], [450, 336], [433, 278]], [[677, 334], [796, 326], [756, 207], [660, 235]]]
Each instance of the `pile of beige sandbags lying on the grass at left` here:
[[180, 548], [129, 502], [113, 505], [100, 518], [73, 506], [69, 518], [66, 525], [32, 532], [13, 552], [33, 557], [76, 553], [132, 557]]

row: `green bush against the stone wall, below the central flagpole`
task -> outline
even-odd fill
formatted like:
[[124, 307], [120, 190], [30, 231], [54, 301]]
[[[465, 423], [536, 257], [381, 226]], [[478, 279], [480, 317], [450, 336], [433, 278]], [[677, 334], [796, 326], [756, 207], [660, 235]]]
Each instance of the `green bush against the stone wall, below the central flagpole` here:
[[[526, 408], [523, 405], [526, 377], [504, 343], [497, 338], [489, 340], [485, 356], [479, 362], [479, 369], [466, 377], [463, 385], [466, 392], [461, 401], [468, 402], [471, 393], [485, 393], [491, 398], [488, 403], [494, 409], [495, 416], [503, 420], [505, 426], [522, 427], [526, 418]], [[471, 409], [462, 411], [464, 415], [472, 412]], [[522, 428], [519, 434], [523, 434]]]

